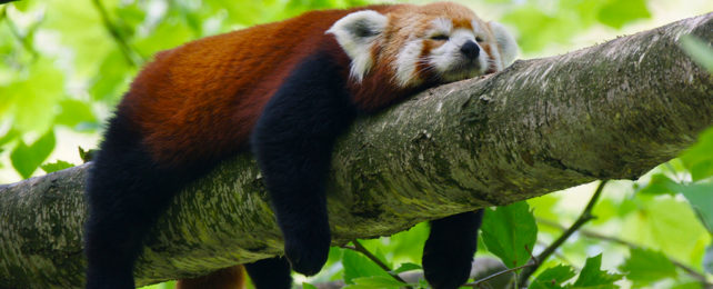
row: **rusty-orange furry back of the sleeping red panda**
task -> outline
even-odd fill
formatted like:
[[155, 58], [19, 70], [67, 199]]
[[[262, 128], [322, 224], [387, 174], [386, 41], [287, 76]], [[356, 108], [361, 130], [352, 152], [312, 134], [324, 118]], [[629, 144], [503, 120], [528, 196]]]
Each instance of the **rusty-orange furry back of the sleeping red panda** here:
[[[384, 8], [384, 7], [374, 7]], [[325, 31], [353, 10], [304, 13], [162, 51], [119, 106], [158, 163], [210, 160], [244, 148], [264, 104], [318, 49], [349, 58]]]

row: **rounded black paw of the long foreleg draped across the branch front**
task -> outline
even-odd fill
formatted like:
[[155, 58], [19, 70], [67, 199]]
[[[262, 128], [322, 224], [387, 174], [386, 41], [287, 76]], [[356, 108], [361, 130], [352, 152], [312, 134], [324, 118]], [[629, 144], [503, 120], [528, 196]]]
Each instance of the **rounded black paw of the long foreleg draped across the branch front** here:
[[329, 227], [311, 227], [300, 230], [292, 236], [284, 236], [284, 256], [290, 261], [292, 270], [312, 276], [322, 270], [329, 255], [331, 236]]

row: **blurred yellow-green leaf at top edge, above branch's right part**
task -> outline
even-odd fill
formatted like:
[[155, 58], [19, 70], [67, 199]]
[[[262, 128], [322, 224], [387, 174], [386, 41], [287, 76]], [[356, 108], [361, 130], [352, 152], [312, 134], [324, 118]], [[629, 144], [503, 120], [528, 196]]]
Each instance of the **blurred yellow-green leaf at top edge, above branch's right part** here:
[[596, 16], [599, 21], [616, 29], [633, 20], [647, 18], [651, 18], [651, 13], [645, 0], [610, 0]]

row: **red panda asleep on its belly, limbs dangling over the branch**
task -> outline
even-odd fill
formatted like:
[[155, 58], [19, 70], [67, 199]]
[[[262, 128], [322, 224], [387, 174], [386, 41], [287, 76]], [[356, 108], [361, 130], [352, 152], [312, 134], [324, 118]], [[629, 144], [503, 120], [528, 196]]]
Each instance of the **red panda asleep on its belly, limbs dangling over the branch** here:
[[[252, 150], [284, 257], [245, 265], [257, 288], [320, 271], [331, 241], [332, 146], [359, 116], [440, 83], [503, 69], [516, 44], [455, 3], [308, 12], [162, 51], [133, 80], [91, 168], [87, 288], [133, 288], [143, 239], [175, 192]], [[433, 288], [468, 279], [482, 213], [432, 221]]]

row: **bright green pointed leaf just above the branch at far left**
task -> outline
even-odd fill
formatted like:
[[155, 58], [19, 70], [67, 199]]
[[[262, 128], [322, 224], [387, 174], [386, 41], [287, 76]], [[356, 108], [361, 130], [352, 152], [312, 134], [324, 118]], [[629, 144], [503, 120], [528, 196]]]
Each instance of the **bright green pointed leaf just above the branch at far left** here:
[[20, 141], [10, 153], [12, 167], [27, 179], [50, 156], [54, 149], [54, 131], [50, 130], [34, 143], [27, 146]]

